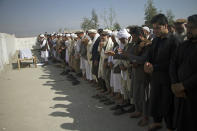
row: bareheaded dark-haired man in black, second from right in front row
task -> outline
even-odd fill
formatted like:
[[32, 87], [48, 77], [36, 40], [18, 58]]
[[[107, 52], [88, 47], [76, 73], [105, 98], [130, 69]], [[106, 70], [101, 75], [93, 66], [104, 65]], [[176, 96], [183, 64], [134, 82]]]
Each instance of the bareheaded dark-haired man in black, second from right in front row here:
[[162, 127], [165, 119], [169, 131], [173, 130], [173, 93], [171, 91], [169, 64], [178, 40], [168, 33], [168, 21], [165, 15], [158, 14], [152, 19], [156, 38], [153, 39], [147, 61], [144, 65], [146, 73], [151, 74], [150, 116], [154, 123], [149, 131], [156, 131]]

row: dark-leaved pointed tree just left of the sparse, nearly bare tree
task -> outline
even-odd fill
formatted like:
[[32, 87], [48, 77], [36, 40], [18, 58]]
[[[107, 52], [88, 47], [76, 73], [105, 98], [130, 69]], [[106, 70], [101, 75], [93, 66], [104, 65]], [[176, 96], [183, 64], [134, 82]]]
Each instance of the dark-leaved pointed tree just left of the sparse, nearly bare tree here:
[[91, 18], [84, 17], [83, 22], [81, 23], [81, 28], [83, 30], [89, 29], [98, 29], [98, 16], [94, 9], [92, 9], [92, 16]]

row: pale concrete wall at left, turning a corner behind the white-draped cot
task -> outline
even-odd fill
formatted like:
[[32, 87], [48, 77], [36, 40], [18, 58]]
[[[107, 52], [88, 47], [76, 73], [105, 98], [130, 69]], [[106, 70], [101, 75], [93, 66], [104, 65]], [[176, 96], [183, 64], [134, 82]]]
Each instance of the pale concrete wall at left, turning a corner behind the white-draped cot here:
[[39, 48], [36, 46], [36, 37], [16, 38], [15, 35], [0, 33], [0, 72], [5, 65], [11, 64], [10, 59], [17, 50], [25, 48]]

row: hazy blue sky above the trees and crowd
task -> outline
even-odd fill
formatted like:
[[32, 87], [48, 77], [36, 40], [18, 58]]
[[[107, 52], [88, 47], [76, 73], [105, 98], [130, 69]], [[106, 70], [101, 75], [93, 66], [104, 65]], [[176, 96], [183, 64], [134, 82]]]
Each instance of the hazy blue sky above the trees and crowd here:
[[[58, 31], [59, 28], [80, 29], [83, 17], [95, 9], [100, 18], [104, 9], [113, 8], [122, 27], [142, 25], [147, 0], [0, 0], [0, 32], [16, 36], [34, 36]], [[197, 0], [154, 0], [164, 13], [172, 10], [175, 18], [197, 13]]]

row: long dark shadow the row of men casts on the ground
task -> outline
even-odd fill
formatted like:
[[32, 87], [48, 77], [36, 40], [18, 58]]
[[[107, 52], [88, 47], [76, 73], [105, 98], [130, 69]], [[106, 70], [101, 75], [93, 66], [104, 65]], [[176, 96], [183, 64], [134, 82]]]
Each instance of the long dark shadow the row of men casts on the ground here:
[[59, 123], [62, 129], [79, 131], [144, 131], [147, 129], [147, 127], [138, 127], [138, 120], [130, 119], [129, 114], [114, 116], [109, 106], [91, 97], [96, 90], [88, 82], [79, 79], [80, 85], [72, 86], [66, 76], [60, 75], [62, 68], [59, 66], [48, 65], [42, 69], [46, 75], [40, 76], [40, 79], [49, 79], [43, 85], [46, 88], [51, 87], [57, 96], [52, 99], [56, 104], [49, 107], [54, 109], [49, 116], [65, 118], [64, 123]]

